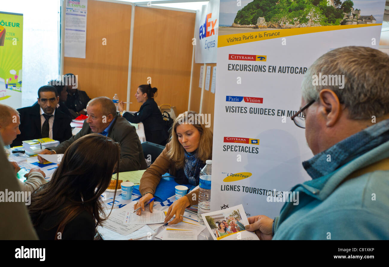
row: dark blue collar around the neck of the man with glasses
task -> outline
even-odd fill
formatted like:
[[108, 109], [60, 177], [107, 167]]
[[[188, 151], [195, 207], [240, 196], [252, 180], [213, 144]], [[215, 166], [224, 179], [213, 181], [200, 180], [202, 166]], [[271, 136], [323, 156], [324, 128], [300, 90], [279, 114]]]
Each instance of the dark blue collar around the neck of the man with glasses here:
[[[303, 162], [312, 179], [335, 171], [371, 149], [389, 140], [389, 120], [381, 121], [338, 142], [327, 150]], [[327, 161], [331, 155], [331, 161]]]

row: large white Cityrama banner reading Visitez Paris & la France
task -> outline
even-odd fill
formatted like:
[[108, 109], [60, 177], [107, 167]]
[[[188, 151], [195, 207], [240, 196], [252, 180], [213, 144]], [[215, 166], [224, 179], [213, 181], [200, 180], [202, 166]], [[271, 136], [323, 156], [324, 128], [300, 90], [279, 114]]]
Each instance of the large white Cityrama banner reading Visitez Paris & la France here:
[[290, 118], [307, 68], [338, 47], [378, 49], [385, 1], [239, 3], [220, 1], [211, 211], [243, 204], [273, 218], [310, 179], [301, 163], [313, 154]]

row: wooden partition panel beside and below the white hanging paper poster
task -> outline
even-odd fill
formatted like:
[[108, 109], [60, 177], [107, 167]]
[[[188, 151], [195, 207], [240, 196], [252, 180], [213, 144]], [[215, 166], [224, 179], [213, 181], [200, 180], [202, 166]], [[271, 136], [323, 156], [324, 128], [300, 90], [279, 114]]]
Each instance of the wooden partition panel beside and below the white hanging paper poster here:
[[[131, 5], [88, 1], [86, 58], [65, 57], [65, 73], [78, 75], [89, 97], [127, 97]], [[103, 45], [103, 38], [107, 45]]]

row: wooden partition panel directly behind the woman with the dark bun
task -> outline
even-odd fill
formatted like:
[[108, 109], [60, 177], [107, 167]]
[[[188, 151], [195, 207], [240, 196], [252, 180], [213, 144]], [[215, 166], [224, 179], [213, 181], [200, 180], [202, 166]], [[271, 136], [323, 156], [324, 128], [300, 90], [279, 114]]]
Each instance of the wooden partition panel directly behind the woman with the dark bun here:
[[158, 105], [171, 104], [178, 113], [187, 110], [195, 19], [196, 13], [135, 7], [131, 110], [141, 105], [135, 92], [147, 77], [158, 88]]

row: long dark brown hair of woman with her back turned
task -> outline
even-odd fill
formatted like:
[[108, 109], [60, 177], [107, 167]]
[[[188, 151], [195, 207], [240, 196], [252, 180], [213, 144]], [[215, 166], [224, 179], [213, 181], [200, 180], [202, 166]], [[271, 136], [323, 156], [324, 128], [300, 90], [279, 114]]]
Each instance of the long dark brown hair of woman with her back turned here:
[[[109, 215], [100, 217], [105, 213], [99, 197], [109, 186], [114, 171], [117, 185], [119, 161], [120, 145], [109, 137], [91, 133], [75, 140], [65, 151], [53, 178], [31, 196], [28, 212], [33, 225], [39, 225], [45, 215], [64, 204], [58, 222], [49, 229], [57, 225], [63, 229], [83, 211], [95, 218], [96, 225], [101, 225]], [[116, 190], [114, 201], [115, 196]]]

